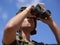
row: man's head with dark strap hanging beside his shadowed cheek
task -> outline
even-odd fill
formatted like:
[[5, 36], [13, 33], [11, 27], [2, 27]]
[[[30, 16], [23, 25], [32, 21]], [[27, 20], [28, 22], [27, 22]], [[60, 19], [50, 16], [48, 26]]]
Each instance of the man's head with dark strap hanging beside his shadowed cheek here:
[[[17, 12], [17, 14], [20, 13], [20, 12], [22, 12], [22, 11], [19, 10]], [[36, 24], [37, 24], [36, 17], [34, 17], [34, 16], [27, 16], [23, 20], [23, 22], [22, 22], [22, 24], [20, 26], [20, 29], [29, 31], [31, 35], [34, 35], [34, 34], [36, 34], [36, 30], [35, 30], [36, 29]]]

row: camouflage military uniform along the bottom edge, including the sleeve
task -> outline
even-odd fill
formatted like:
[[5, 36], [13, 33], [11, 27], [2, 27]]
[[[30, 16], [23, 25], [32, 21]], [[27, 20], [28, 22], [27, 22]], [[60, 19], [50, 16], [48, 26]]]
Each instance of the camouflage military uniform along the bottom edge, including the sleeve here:
[[[3, 45], [6, 45], [3, 43]], [[9, 45], [57, 45], [57, 44], [44, 44], [44, 43], [38, 43], [34, 40], [32, 40], [31, 42], [25, 42], [24, 39], [22, 39], [21, 37], [19, 36], [16, 36], [16, 40], [13, 41], [11, 44]]]

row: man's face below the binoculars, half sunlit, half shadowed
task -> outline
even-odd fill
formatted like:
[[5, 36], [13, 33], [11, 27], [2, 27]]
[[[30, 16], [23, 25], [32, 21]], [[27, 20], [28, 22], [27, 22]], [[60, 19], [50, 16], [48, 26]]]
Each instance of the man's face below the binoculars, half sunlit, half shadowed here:
[[33, 17], [27, 17], [24, 19], [24, 21], [21, 24], [21, 28], [24, 30], [32, 31], [35, 27], [34, 25], [34, 18]]

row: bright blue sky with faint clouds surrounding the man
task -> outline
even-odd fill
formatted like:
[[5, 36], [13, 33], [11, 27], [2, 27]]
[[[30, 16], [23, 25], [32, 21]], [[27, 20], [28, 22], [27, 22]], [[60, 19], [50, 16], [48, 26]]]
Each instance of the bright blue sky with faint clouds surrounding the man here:
[[[4, 26], [16, 15], [19, 8], [30, 4], [36, 5], [38, 3], [45, 4], [45, 8], [52, 12], [51, 16], [60, 28], [60, 0], [0, 0], [0, 45], [2, 45]], [[37, 21], [37, 23], [37, 34], [31, 36], [31, 40], [48, 44], [57, 43], [48, 25], [41, 21]]]

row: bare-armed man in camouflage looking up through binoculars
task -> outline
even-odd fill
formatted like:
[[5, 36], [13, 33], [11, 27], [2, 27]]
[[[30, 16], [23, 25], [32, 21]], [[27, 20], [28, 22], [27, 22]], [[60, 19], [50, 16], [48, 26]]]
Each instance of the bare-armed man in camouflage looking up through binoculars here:
[[[3, 35], [3, 45], [44, 45], [43, 43], [30, 41], [30, 34], [35, 28], [34, 19], [36, 18], [34, 15], [30, 14], [32, 7], [33, 5], [30, 5], [24, 11], [11, 18], [6, 24]], [[56, 37], [57, 43], [60, 44], [60, 29], [51, 17], [48, 17], [48, 19], [37, 19], [46, 23], [51, 28]], [[17, 31], [20, 31], [18, 40], [16, 40]]]

